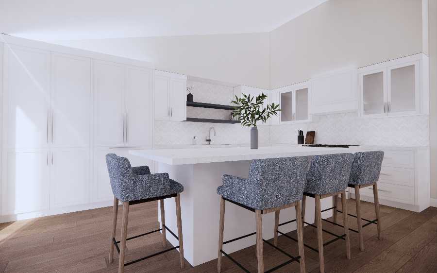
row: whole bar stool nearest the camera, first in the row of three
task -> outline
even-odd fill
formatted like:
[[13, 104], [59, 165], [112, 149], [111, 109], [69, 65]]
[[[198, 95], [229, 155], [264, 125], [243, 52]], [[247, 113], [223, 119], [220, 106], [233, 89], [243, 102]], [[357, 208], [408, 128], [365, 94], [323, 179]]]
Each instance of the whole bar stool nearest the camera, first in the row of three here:
[[[235, 261], [234, 258], [223, 251], [223, 244], [227, 244], [255, 234], [258, 273], [264, 272], [263, 242], [266, 242], [290, 258], [285, 263], [270, 269], [269, 272], [277, 270], [293, 261], [299, 262], [301, 272], [305, 272], [302, 232], [303, 226], [300, 201], [302, 200], [303, 196], [303, 187], [305, 185], [307, 167], [308, 158], [306, 156], [257, 159], [252, 161], [249, 177], [247, 179], [227, 174], [223, 175], [223, 185], [217, 189], [217, 193], [221, 195], [218, 237], [218, 273], [221, 272], [222, 254], [227, 256], [242, 270], [249, 272], [241, 264]], [[226, 201], [255, 212], [256, 232], [223, 242]], [[294, 206], [296, 210], [298, 230], [299, 256], [297, 257], [286, 253], [278, 248], [275, 244], [271, 244], [269, 241], [263, 239], [262, 235], [263, 214], [270, 212], [278, 213], [279, 210], [292, 206]], [[277, 215], [279, 219], [279, 214]], [[275, 229], [277, 229], [277, 226], [275, 226]]]

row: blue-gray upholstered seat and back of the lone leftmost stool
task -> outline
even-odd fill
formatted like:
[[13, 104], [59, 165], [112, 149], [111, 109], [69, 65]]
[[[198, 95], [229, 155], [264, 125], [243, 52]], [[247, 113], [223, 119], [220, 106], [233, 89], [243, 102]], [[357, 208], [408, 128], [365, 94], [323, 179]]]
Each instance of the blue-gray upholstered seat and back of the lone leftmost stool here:
[[106, 154], [112, 192], [122, 202], [159, 197], [184, 191], [168, 173], [150, 173], [147, 166], [131, 167], [126, 157]]

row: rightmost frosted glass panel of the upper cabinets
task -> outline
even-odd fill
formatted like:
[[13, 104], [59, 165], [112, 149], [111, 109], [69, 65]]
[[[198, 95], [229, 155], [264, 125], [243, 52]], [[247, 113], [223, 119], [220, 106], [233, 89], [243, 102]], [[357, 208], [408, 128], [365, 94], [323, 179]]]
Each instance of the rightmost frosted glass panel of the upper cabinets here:
[[416, 65], [390, 69], [388, 112], [416, 110]]

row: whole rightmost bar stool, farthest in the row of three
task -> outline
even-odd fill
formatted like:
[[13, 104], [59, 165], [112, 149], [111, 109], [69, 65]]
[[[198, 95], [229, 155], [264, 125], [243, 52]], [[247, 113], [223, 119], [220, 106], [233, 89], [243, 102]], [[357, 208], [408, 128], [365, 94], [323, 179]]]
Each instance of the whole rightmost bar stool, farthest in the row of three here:
[[[379, 217], [379, 199], [378, 199], [378, 187], [376, 186], [376, 182], [379, 180], [379, 174], [381, 172], [381, 165], [384, 159], [383, 151], [374, 151], [374, 152], [361, 152], [355, 153], [353, 156], [353, 163], [351, 169], [351, 175], [349, 177], [348, 187], [354, 188], [355, 191], [355, 206], [356, 206], [356, 215], [349, 214], [352, 217], [355, 217], [357, 220], [358, 231], [352, 230], [353, 232], [358, 233], [359, 241], [360, 241], [360, 250], [364, 251], [364, 240], [362, 228], [370, 225], [371, 223], [377, 226], [378, 230], [378, 239], [381, 239], [381, 221]], [[368, 220], [361, 218], [361, 206], [360, 206], [360, 188], [366, 188], [373, 186], [373, 200], [375, 204], [375, 220]], [[334, 197], [334, 214], [336, 212], [341, 212], [337, 209], [336, 197]], [[343, 205], [343, 207], [345, 207]], [[364, 220], [368, 223], [362, 224], [361, 220]], [[334, 217], [334, 222], [336, 222], [336, 217]]]

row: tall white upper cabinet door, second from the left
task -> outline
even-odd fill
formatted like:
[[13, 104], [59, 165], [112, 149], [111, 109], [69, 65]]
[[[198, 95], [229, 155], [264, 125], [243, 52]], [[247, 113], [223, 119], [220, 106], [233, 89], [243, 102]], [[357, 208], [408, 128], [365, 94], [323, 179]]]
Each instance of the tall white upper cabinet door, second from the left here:
[[90, 137], [90, 59], [52, 54], [53, 146], [87, 147]]

